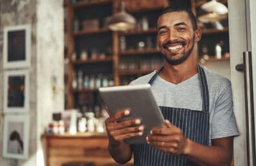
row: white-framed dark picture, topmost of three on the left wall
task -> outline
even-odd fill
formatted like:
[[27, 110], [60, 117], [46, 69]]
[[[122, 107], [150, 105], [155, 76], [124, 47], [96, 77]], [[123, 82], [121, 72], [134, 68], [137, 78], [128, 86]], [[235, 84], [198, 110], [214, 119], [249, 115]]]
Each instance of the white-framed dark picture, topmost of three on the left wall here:
[[8, 26], [4, 28], [3, 32], [3, 68], [30, 67], [30, 25]]

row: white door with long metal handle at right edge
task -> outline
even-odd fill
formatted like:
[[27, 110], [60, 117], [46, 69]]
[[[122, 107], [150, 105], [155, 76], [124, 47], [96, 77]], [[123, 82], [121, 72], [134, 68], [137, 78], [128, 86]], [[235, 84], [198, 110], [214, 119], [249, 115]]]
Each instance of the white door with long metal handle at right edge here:
[[[234, 140], [234, 163], [235, 166], [255, 166], [255, 120], [251, 116], [256, 115], [256, 1], [255, 0], [228, 0], [229, 10], [229, 47], [230, 47], [230, 69], [233, 89], [234, 112], [237, 118], [240, 136]], [[253, 19], [254, 18], [254, 19]], [[248, 71], [237, 71], [237, 64], [243, 64], [243, 53], [251, 52], [251, 83], [254, 78], [254, 86], [247, 90], [244, 86], [244, 73]], [[247, 61], [248, 62], [248, 61]], [[246, 64], [247, 66], [247, 64]], [[249, 77], [246, 77], [250, 80]], [[253, 85], [253, 83], [252, 83]], [[246, 95], [246, 91], [247, 94]], [[254, 97], [253, 97], [253, 91]], [[251, 95], [250, 95], [251, 93]], [[248, 99], [248, 106], [245, 99]], [[251, 99], [251, 100], [250, 100]], [[251, 111], [246, 112], [246, 107]], [[248, 127], [246, 127], [248, 125]], [[246, 131], [248, 128], [248, 131]], [[253, 143], [254, 142], [254, 143]]]

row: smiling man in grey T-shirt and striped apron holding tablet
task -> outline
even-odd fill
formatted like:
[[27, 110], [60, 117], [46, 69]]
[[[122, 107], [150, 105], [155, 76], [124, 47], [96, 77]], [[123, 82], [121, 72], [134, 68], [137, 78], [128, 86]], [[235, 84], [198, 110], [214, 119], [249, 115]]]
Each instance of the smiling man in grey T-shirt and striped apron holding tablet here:
[[141, 136], [140, 120], [120, 122], [128, 110], [110, 116], [105, 124], [109, 152], [118, 163], [134, 154], [134, 165], [225, 165], [231, 163], [233, 136], [239, 134], [228, 79], [197, 64], [201, 32], [190, 10], [165, 8], [158, 17], [157, 41], [164, 66], [131, 84], [151, 84], [164, 115], [147, 144], [127, 145], [125, 138]]

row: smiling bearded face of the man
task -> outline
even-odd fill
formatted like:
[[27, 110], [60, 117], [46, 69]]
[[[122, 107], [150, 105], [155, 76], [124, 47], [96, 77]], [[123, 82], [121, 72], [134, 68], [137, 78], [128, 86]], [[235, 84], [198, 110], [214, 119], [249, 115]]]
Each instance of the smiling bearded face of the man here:
[[165, 60], [171, 64], [181, 64], [191, 54], [197, 33], [186, 12], [171, 12], [159, 17], [157, 42]]

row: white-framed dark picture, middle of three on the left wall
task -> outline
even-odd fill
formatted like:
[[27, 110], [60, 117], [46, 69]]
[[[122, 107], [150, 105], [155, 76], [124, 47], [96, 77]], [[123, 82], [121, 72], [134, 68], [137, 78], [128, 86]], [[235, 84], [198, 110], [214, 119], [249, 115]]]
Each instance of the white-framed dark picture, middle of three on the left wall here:
[[4, 112], [27, 112], [29, 109], [29, 99], [28, 70], [4, 71]]

